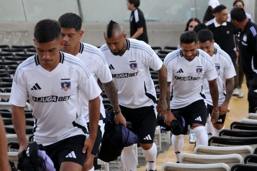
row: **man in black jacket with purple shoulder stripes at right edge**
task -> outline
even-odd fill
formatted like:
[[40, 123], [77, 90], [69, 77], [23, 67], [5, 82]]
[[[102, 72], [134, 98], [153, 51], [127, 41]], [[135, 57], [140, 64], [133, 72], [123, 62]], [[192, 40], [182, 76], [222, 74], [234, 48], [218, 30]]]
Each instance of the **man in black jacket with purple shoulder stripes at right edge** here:
[[257, 25], [247, 18], [243, 8], [233, 8], [230, 14], [231, 22], [241, 29], [238, 35], [238, 47], [249, 89], [249, 113], [253, 113], [257, 107]]

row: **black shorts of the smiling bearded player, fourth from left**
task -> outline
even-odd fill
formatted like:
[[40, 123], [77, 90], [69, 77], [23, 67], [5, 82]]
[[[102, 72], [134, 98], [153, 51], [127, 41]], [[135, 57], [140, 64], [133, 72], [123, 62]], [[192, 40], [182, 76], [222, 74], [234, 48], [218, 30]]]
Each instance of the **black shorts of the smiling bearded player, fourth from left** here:
[[206, 124], [207, 108], [205, 106], [204, 100], [197, 100], [183, 108], [171, 109], [171, 112], [177, 112], [185, 119], [185, 127], [182, 131], [183, 135], [187, 134], [188, 125], [192, 127], [192, 124], [201, 124], [203, 126]]

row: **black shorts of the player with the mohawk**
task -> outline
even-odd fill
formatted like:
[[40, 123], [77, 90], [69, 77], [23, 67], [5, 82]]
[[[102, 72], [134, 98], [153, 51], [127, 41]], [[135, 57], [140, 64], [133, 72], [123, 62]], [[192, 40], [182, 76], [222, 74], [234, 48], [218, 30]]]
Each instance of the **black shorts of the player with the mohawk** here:
[[126, 121], [132, 123], [130, 130], [137, 135], [139, 142], [152, 144], [156, 128], [156, 108], [154, 106], [135, 109], [120, 106], [120, 108]]

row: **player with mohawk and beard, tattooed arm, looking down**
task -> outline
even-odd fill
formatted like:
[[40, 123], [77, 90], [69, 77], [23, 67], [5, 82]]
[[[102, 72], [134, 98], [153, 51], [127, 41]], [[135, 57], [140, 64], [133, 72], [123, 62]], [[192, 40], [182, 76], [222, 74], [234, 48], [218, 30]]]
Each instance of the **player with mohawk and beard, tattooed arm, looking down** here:
[[[132, 122], [132, 131], [137, 134], [143, 154], [147, 160], [146, 170], [156, 170], [157, 147], [153, 142], [157, 111], [167, 111], [167, 68], [143, 41], [126, 39], [120, 24], [110, 21], [104, 31], [104, 53], [115, 85], [119, 104], [126, 121]], [[158, 71], [160, 98], [156, 110], [156, 93], [149, 67]], [[124, 147], [121, 155], [126, 170], [136, 170], [133, 145]]]

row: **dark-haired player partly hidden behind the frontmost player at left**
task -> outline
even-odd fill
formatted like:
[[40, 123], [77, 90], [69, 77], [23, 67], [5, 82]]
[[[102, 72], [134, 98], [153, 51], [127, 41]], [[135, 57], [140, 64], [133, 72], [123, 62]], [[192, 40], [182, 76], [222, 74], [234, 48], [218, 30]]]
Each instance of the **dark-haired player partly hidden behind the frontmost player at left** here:
[[[124, 124], [126, 125], [126, 120], [122, 116], [118, 102], [118, 93], [117, 88], [115, 87], [114, 81], [112, 80], [112, 75], [109, 70], [108, 64], [105, 60], [104, 54], [97, 49], [97, 47], [92, 46], [87, 43], [80, 42], [80, 39], [84, 33], [81, 30], [82, 21], [80, 16], [74, 13], [66, 13], [63, 14], [58, 21], [61, 25], [61, 35], [64, 39], [64, 44], [61, 48], [62, 52], [70, 53], [74, 56], [80, 58], [84, 64], [87, 66], [89, 72], [93, 75], [95, 80], [99, 79], [100, 87], [103, 87], [105, 93], [110, 100], [115, 115], [116, 124]], [[98, 81], [98, 82], [99, 82]], [[102, 86], [103, 85], [103, 86]], [[103, 105], [103, 98], [100, 96], [101, 107], [100, 107], [100, 120], [98, 126], [98, 134], [96, 137], [96, 141], [91, 152], [90, 158], [88, 159], [88, 164], [85, 163], [83, 170], [90, 170], [93, 168], [94, 157], [97, 156], [97, 152], [102, 141], [102, 136], [104, 134], [104, 118], [105, 118], [105, 109]], [[86, 119], [87, 125], [89, 126], [89, 111], [88, 111], [88, 102], [81, 100], [82, 103], [82, 114]], [[90, 132], [90, 129], [89, 129]]]

